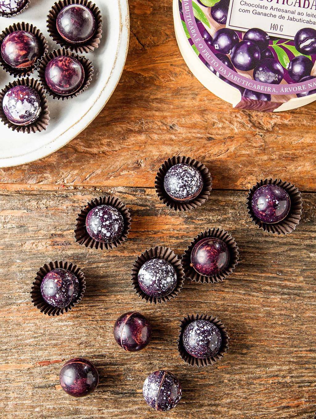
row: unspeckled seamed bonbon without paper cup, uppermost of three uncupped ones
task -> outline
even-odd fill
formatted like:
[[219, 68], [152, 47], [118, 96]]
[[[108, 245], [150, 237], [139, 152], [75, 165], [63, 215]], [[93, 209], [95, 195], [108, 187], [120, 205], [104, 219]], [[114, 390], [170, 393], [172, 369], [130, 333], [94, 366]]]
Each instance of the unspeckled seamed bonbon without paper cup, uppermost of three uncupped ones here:
[[141, 313], [131, 311], [117, 319], [113, 334], [117, 344], [125, 351], [140, 351], [152, 339], [152, 326]]

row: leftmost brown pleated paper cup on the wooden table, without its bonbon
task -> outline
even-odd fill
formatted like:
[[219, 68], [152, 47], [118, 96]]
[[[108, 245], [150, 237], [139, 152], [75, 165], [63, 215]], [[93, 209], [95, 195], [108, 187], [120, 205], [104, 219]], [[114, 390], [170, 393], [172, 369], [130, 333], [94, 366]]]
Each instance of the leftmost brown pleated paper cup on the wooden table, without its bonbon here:
[[[52, 307], [51, 305], [47, 304], [44, 298], [41, 295], [41, 282], [48, 272], [53, 271], [54, 269], [67, 269], [67, 271], [72, 272], [75, 274], [79, 281], [79, 292], [77, 299], [72, 301], [67, 307], [58, 308]], [[31, 289], [31, 300], [32, 303], [35, 305], [36, 308], [40, 310], [41, 313], [47, 314], [48, 316], [59, 316], [60, 314], [67, 313], [71, 310], [75, 305], [79, 304], [82, 300], [82, 297], [85, 293], [86, 285], [85, 285], [85, 275], [82, 270], [73, 263], [69, 263], [67, 261], [54, 261], [46, 263], [39, 269], [39, 272], [36, 274], [35, 281], [33, 282], [33, 286]]]

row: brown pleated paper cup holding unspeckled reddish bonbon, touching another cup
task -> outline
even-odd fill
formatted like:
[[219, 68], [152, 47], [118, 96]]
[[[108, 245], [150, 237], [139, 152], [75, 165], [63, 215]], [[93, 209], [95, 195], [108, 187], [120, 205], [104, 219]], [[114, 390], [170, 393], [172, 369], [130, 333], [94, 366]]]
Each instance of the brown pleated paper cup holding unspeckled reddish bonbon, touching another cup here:
[[[203, 238], [207, 237], [214, 237], [218, 238], [224, 243], [226, 243], [228, 250], [229, 250], [229, 264], [227, 267], [221, 271], [218, 272], [218, 274], [206, 277], [204, 275], [199, 274], [195, 271], [195, 269], [190, 266], [191, 264], [191, 253], [193, 251], [193, 247], [198, 243], [198, 241], [202, 240]], [[192, 281], [195, 282], [207, 282], [208, 284], [217, 283], [220, 281], [223, 281], [226, 277], [228, 277], [236, 268], [236, 265], [238, 264], [239, 260], [239, 252], [238, 247], [236, 245], [235, 239], [225, 230], [221, 230], [220, 228], [210, 228], [209, 230], [206, 230], [200, 234], [198, 234], [193, 241], [191, 241], [188, 248], [185, 250], [184, 254], [182, 255], [182, 266], [184, 269], [185, 276]]]

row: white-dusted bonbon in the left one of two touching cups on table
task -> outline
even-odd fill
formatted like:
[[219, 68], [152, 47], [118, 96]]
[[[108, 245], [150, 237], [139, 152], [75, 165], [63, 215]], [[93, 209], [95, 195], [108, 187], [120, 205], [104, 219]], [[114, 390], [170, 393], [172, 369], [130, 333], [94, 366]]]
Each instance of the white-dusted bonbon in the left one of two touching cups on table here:
[[177, 286], [177, 272], [164, 259], [150, 259], [141, 266], [138, 283], [146, 295], [164, 297]]

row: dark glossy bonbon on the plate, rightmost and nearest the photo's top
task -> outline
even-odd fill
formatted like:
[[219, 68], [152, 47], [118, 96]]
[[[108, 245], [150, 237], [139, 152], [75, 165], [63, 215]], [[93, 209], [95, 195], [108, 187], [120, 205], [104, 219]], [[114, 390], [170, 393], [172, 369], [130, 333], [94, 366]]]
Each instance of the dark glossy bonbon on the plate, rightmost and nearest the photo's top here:
[[82, 44], [95, 33], [95, 17], [85, 6], [70, 4], [57, 16], [57, 31], [70, 44]]

